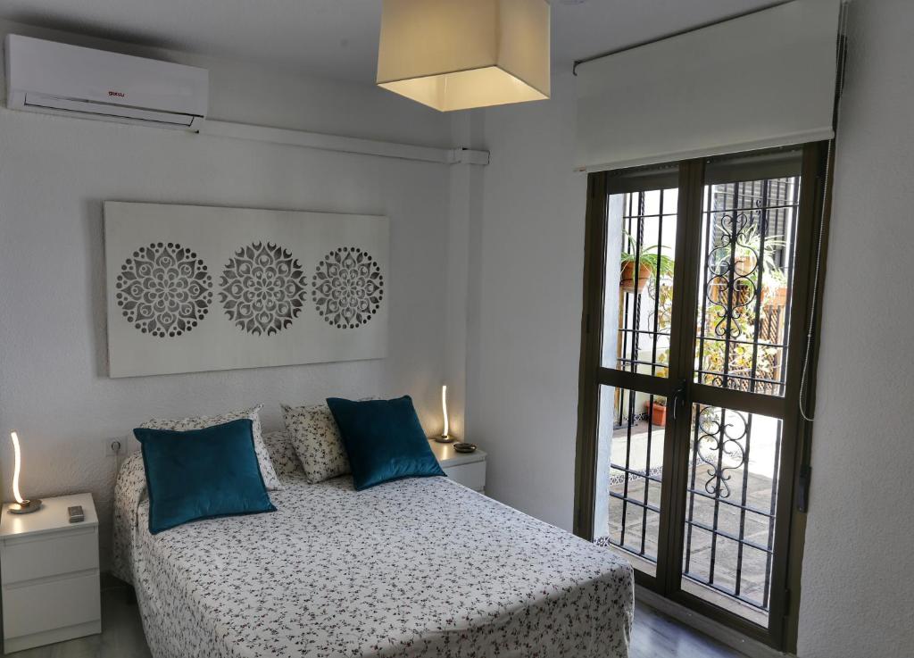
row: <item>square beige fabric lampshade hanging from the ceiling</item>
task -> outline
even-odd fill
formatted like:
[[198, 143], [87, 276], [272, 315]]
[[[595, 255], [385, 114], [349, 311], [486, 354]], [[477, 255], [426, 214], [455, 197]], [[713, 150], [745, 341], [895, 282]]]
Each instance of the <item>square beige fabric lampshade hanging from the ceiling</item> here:
[[384, 0], [377, 84], [440, 111], [549, 97], [546, 0]]

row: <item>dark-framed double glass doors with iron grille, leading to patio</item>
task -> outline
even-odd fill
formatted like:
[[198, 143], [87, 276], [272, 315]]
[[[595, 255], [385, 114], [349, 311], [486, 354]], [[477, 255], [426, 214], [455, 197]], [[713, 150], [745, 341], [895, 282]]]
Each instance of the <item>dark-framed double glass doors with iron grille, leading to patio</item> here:
[[589, 180], [577, 532], [778, 648], [823, 165], [813, 143]]

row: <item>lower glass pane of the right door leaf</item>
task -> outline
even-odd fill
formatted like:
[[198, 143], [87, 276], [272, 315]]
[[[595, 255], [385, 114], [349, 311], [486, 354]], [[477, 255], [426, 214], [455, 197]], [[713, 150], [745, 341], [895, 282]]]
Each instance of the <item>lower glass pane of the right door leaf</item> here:
[[694, 405], [685, 591], [768, 625], [781, 420]]

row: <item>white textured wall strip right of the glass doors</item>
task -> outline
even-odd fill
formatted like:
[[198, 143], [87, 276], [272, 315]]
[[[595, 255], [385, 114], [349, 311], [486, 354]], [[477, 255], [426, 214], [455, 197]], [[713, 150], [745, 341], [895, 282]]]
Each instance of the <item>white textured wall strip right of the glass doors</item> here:
[[850, 8], [802, 658], [914, 654], [914, 4]]

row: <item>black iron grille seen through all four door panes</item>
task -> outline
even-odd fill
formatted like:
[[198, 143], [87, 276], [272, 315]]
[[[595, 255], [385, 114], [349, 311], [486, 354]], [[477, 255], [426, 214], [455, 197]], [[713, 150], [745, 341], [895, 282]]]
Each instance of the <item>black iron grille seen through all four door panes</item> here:
[[[799, 194], [799, 176], [705, 187], [696, 382], [783, 395]], [[675, 189], [626, 193], [615, 198], [614, 214], [611, 197], [622, 271], [618, 285], [607, 280], [611, 313], [604, 322], [618, 326], [611, 353], [604, 351], [607, 366], [668, 375], [675, 259], [669, 202], [676, 196]], [[601, 396], [612, 414], [610, 524], [596, 539], [654, 568], [664, 440], [664, 427], [653, 418], [656, 402], [665, 400], [625, 388], [607, 387]], [[781, 421], [696, 405], [690, 450], [684, 583], [765, 615]]]

